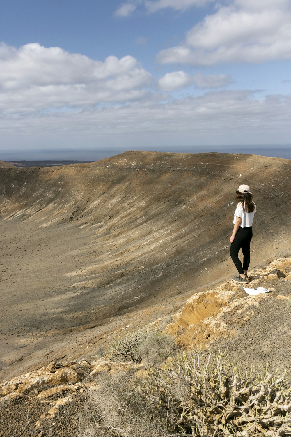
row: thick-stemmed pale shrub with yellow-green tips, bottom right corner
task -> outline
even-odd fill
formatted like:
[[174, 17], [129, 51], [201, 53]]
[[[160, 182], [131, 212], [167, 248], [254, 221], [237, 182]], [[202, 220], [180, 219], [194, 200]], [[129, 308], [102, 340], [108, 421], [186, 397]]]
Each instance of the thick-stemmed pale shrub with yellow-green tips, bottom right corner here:
[[254, 378], [241, 374], [225, 354], [201, 364], [199, 353], [178, 355], [177, 361], [156, 371], [140, 388], [145, 397], [156, 399], [164, 415], [171, 410], [182, 435], [209, 437], [270, 437], [291, 435], [291, 388], [286, 373], [273, 375], [266, 369]]

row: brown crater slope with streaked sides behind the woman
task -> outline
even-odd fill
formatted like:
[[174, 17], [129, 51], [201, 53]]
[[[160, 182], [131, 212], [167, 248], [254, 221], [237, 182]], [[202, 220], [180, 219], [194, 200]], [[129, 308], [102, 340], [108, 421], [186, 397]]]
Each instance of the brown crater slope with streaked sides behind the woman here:
[[3, 378], [96, 350], [235, 273], [229, 236], [242, 183], [257, 204], [251, 266], [289, 250], [290, 163], [129, 151], [0, 169]]

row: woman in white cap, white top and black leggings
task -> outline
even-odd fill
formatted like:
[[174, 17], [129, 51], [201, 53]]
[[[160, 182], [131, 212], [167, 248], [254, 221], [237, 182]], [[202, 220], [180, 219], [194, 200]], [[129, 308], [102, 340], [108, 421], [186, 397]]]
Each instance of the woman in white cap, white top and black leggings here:
[[[229, 241], [230, 257], [239, 272], [238, 276], [233, 277], [233, 281], [247, 284], [249, 278], [247, 269], [250, 264], [250, 240], [253, 236], [253, 216], [256, 212], [256, 205], [252, 201], [253, 196], [248, 185], [240, 185], [236, 191], [236, 210], [233, 219], [233, 233]], [[238, 257], [240, 249], [243, 252], [243, 265]]]

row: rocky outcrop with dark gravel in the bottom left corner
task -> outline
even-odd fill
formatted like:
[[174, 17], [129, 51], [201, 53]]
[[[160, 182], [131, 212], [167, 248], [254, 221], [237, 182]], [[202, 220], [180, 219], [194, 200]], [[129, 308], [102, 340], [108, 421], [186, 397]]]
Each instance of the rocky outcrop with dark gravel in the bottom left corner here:
[[[87, 400], [88, 390], [98, 390], [98, 384], [88, 376], [129, 370], [140, 378], [145, 378], [142, 372], [147, 374], [142, 364], [114, 363], [104, 359], [93, 361], [92, 364], [86, 360], [53, 361], [47, 367], [0, 384], [0, 408], [6, 412], [0, 417], [0, 437], [76, 435], [78, 423], [70, 431], [65, 418], [72, 415], [72, 409], [78, 417], [82, 404]], [[17, 406], [27, 412], [26, 420], [21, 419]], [[13, 411], [17, 425], [9, 420]], [[34, 413], [31, 414], [31, 411]], [[22, 421], [24, 423], [20, 424]], [[14, 430], [16, 426], [17, 430]], [[58, 433], [57, 427], [64, 431]]]

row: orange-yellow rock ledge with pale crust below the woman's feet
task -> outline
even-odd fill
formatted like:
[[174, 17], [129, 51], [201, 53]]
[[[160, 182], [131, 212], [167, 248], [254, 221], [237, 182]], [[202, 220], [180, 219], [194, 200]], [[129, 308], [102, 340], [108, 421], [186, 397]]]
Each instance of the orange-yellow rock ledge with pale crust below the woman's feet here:
[[[262, 279], [285, 279], [290, 267], [291, 257], [275, 260], [265, 269], [250, 271], [252, 281], [246, 287], [256, 288]], [[270, 298], [270, 295], [264, 293], [250, 296], [244, 292], [236, 297], [239, 291], [243, 292], [239, 284], [227, 281], [215, 290], [196, 293], [176, 313], [174, 321], [166, 327], [165, 332], [176, 336], [176, 342], [189, 349], [201, 346], [208, 348], [221, 337], [233, 336], [236, 327], [230, 328], [226, 319], [230, 317], [246, 322], [253, 316], [250, 306], [258, 306], [263, 299]], [[270, 288], [270, 291], [275, 290]], [[290, 297], [278, 295], [277, 299], [289, 300]]]

